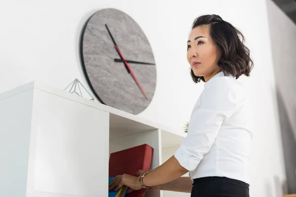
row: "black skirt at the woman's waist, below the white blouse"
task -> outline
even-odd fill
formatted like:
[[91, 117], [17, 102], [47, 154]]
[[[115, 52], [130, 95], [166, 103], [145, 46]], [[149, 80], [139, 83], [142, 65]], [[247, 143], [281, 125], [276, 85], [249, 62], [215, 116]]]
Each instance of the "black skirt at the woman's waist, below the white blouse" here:
[[249, 184], [226, 177], [197, 178], [190, 197], [250, 197]]

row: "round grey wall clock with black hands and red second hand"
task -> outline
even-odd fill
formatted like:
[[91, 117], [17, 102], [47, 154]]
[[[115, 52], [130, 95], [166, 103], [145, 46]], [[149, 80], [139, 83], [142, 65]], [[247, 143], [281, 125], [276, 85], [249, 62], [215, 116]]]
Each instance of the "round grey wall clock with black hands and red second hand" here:
[[156, 67], [140, 26], [116, 9], [102, 9], [86, 22], [80, 40], [84, 75], [103, 104], [138, 114], [153, 98]]

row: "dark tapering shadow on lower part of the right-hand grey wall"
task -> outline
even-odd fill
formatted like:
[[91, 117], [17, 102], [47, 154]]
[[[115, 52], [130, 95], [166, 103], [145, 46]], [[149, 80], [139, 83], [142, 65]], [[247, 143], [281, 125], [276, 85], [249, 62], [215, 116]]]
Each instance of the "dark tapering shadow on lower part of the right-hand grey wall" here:
[[283, 186], [283, 191], [287, 191], [288, 194], [296, 194], [296, 141], [279, 87], [277, 87], [276, 94], [287, 176], [287, 186]]

